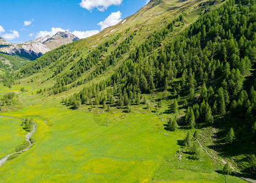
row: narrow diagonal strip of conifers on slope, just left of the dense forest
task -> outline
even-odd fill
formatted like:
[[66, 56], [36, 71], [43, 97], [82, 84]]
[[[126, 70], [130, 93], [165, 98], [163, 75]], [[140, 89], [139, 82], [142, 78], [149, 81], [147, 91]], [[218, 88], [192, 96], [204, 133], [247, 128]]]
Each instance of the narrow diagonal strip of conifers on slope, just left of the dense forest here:
[[[89, 54], [87, 56], [87, 59], [81, 59], [78, 64], [75, 65], [75, 67], [71, 68], [72, 71], [70, 73], [61, 76], [61, 79], [59, 79], [53, 87], [53, 93], [61, 93], [62, 91], [69, 90], [70, 88], [76, 87], [77, 85], [85, 84], [86, 82], [91, 81], [95, 77], [104, 73], [104, 71], [107, 70], [109, 66], [118, 63], [118, 60], [122, 59], [122, 55], [130, 51], [130, 43], [132, 41], [132, 38], [134, 38], [136, 32], [137, 30], [132, 32], [132, 34], [130, 34], [124, 41], [122, 41], [114, 51], [111, 51], [110, 55], [108, 55], [107, 57], [103, 56], [104, 52], [98, 49], [94, 49], [95, 52], [93, 51], [92, 54]], [[109, 46], [110, 43], [116, 43], [116, 41], [120, 37], [121, 35], [119, 34], [118, 36], [116, 36], [116, 38], [113, 39], [115, 41], [107, 41], [106, 43], [104, 43], [104, 46]], [[107, 52], [107, 50], [105, 52]], [[81, 76], [81, 74], [91, 69], [94, 65], [96, 65], [96, 68], [89, 74], [89, 76], [85, 77], [85, 79], [74, 82]], [[72, 82], [74, 83], [71, 86], [65, 86]]]

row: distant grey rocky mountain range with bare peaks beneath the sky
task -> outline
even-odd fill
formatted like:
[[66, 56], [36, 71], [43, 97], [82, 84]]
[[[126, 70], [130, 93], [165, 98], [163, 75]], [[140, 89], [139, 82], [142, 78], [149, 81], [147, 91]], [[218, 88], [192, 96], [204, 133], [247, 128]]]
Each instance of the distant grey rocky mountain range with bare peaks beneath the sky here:
[[19, 54], [24, 57], [36, 59], [42, 56], [42, 54], [45, 54], [45, 52], [77, 40], [79, 38], [69, 32], [57, 32], [52, 37], [47, 35], [47, 37], [39, 37], [36, 40], [27, 41], [23, 44], [9, 43], [0, 37], [0, 52], [6, 52], [11, 55]]

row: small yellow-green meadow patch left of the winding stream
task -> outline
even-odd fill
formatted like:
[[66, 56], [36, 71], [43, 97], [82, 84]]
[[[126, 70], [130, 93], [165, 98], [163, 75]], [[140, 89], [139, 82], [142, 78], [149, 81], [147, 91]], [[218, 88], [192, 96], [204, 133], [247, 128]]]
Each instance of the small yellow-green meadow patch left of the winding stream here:
[[20, 145], [26, 138], [26, 131], [20, 126], [21, 120], [0, 117], [0, 159]]

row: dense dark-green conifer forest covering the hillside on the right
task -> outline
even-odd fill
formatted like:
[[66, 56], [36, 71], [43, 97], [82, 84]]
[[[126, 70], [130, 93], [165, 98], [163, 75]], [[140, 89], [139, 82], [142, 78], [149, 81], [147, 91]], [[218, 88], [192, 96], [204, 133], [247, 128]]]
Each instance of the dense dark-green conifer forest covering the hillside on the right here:
[[[219, 140], [225, 142], [214, 148], [249, 157], [255, 152], [256, 132], [255, 10], [255, 1], [228, 1], [213, 12], [201, 13], [196, 23], [157, 49], [175, 23], [183, 21], [181, 15], [131, 51], [110, 79], [64, 102], [74, 108], [80, 104], [127, 106], [130, 112], [130, 105], [143, 101], [141, 93], [168, 91], [165, 97], [176, 99], [167, 112], [178, 116], [178, 105], [186, 109], [185, 117], [176, 119], [179, 125], [219, 127], [223, 129]], [[115, 59], [107, 59], [107, 65]], [[230, 138], [232, 131], [235, 135]], [[255, 173], [255, 165], [251, 166], [247, 171]]]

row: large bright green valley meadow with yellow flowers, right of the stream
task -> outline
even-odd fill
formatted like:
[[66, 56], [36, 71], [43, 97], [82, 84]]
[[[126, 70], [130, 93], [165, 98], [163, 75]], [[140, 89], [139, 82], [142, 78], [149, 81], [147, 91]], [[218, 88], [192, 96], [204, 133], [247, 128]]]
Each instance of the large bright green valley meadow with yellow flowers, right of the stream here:
[[0, 168], [3, 181], [224, 182], [225, 179], [216, 171], [221, 166], [214, 168], [213, 160], [206, 155], [189, 164], [191, 160], [187, 160], [186, 154], [178, 160], [186, 131], [165, 131], [164, 121], [154, 114], [97, 114], [31, 106], [2, 115], [33, 118], [37, 126], [32, 136], [36, 140], [34, 146]]

